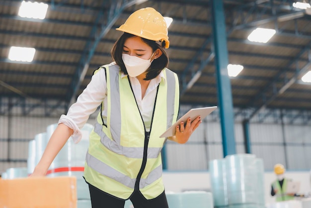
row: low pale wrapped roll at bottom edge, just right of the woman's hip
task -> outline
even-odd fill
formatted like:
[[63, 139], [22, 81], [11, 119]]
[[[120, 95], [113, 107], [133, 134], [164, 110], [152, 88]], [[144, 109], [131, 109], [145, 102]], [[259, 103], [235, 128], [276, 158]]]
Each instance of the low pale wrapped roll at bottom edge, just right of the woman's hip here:
[[169, 208], [214, 208], [212, 193], [204, 191], [187, 191], [167, 193]]

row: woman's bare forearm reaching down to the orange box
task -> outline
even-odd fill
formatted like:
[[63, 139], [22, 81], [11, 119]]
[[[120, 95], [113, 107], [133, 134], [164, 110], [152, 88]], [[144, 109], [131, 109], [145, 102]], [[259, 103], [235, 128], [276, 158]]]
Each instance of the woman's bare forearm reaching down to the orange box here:
[[66, 144], [69, 137], [73, 134], [73, 129], [63, 123], [60, 123], [53, 132], [49, 142], [44, 150], [44, 153], [35, 167], [32, 176], [45, 176], [48, 168], [52, 164], [56, 155]]

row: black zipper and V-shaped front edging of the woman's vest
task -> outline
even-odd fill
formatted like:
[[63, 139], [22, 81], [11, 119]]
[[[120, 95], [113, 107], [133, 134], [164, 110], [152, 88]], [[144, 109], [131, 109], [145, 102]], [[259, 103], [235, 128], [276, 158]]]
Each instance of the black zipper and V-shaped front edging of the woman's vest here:
[[[151, 134], [151, 128], [152, 128], [152, 124], [153, 124], [153, 120], [154, 120], [154, 114], [155, 114], [155, 109], [156, 109], [156, 99], [155, 99], [155, 104], [154, 104], [154, 110], [153, 110], [152, 117], [151, 117], [150, 131], [146, 131], [146, 126], [145, 126], [145, 123], [144, 123], [144, 119], [143, 119], [141, 111], [139, 110], [139, 107], [138, 107], [138, 104], [137, 104], [137, 101], [136, 101], [136, 98], [135, 98], [135, 95], [134, 95], [134, 91], [133, 91], [133, 88], [132, 88], [129, 76], [128, 76], [128, 81], [129, 81], [129, 84], [130, 84], [130, 87], [131, 87], [131, 90], [132, 90], [132, 93], [133, 93], [133, 96], [134, 96], [134, 99], [135, 99], [135, 102], [136, 102], [136, 105], [137, 105], [137, 109], [139, 111], [139, 114], [141, 115], [141, 119], [142, 119], [142, 122], [143, 122], [143, 125], [144, 125], [144, 129], [145, 129], [143, 162], [142, 162], [141, 169], [139, 170], [138, 175], [136, 177], [135, 188], [134, 188], [134, 191], [139, 191], [139, 183], [140, 183], [140, 180], [142, 178], [143, 172], [144, 172], [146, 164], [147, 164], [148, 143], [149, 143], [150, 134]], [[157, 90], [156, 90], [156, 98], [157, 98], [158, 90], [159, 90], [159, 85], [157, 86]]]

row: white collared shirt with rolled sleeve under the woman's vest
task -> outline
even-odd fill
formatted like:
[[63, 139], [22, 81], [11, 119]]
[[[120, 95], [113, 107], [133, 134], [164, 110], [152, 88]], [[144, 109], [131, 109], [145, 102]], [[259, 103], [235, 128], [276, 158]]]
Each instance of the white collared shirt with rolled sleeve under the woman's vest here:
[[[110, 66], [114, 64], [115, 63], [113, 62]], [[128, 75], [124, 75], [122, 73], [121, 79], [127, 79], [127, 77]], [[142, 114], [147, 131], [150, 130], [157, 86], [161, 82], [162, 78], [165, 82], [163, 72], [150, 81], [146, 94], [142, 99], [142, 88], [139, 80], [136, 77], [130, 77], [134, 96]], [[102, 117], [104, 122], [107, 123], [107, 83], [104, 69], [100, 69], [92, 76], [90, 83], [81, 95], [79, 95], [77, 102], [69, 108], [67, 115], [61, 116], [58, 122], [64, 123], [74, 130], [72, 138], [75, 143], [78, 143], [82, 137], [82, 133], [79, 129], [83, 127], [88, 120], [89, 115], [97, 109], [101, 102], [104, 104], [102, 109]]]

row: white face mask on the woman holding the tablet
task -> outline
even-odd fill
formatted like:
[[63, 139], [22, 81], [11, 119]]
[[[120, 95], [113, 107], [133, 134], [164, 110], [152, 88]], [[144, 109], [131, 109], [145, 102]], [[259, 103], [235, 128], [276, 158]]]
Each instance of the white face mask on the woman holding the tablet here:
[[[154, 53], [151, 55], [151, 57], [153, 57]], [[150, 67], [152, 63], [151, 57], [150, 59], [146, 60], [141, 59], [137, 56], [122, 54], [122, 60], [124, 62], [127, 73], [129, 74], [130, 77], [137, 77], [138, 75], [141, 75], [144, 72], [146, 72], [146, 70]]]

